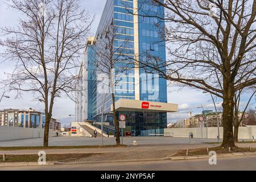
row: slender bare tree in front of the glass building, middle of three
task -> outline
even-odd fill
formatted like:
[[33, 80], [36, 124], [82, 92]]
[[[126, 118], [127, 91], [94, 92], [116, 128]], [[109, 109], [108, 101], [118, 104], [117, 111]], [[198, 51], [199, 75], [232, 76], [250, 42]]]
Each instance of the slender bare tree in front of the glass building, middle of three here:
[[[99, 34], [96, 45], [94, 46], [97, 77], [98, 81], [100, 81], [98, 87], [107, 88], [100, 93], [102, 100], [109, 95], [112, 98], [113, 118], [116, 131], [115, 140], [117, 145], [120, 145], [119, 122], [115, 108], [117, 97], [115, 95], [118, 92], [117, 90], [124, 89], [121, 92], [128, 90], [127, 85], [129, 84], [123, 82], [127, 82], [127, 80], [124, 80], [127, 78], [125, 75], [129, 74], [131, 68], [129, 60], [133, 60], [134, 63], [134, 59], [129, 59], [129, 55], [133, 54], [129, 52], [132, 51], [133, 43], [123, 38], [123, 35], [121, 38], [121, 34], [128, 33], [122, 32], [122, 27], [115, 27], [113, 24], [104, 27], [104, 30], [99, 32]], [[104, 112], [104, 110], [102, 112]]]

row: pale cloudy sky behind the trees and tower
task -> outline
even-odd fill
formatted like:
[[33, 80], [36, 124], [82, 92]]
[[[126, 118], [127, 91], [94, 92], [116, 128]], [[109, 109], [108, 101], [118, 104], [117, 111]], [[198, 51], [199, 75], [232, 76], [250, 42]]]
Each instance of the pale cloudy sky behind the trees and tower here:
[[[102, 11], [104, 9], [106, 0], [84, 0], [81, 3], [85, 9], [88, 9], [90, 14], [95, 15], [95, 20], [92, 24], [92, 34], [96, 32], [98, 23], [101, 18]], [[0, 0], [0, 27], [11, 26], [14, 27], [19, 19], [19, 14], [13, 10], [10, 10]], [[0, 47], [0, 52], [3, 49]], [[0, 79], [5, 78], [5, 73], [11, 73], [14, 68], [14, 63], [5, 61], [0, 57]], [[0, 94], [5, 90], [0, 89]], [[243, 105], [245, 105], [250, 93], [243, 96]], [[44, 106], [38, 101], [33, 101], [32, 93], [24, 93], [22, 98], [15, 98], [14, 93], [6, 93], [10, 96], [10, 99], [4, 98], [0, 103], [0, 110], [2, 109], [28, 109], [32, 107], [35, 110], [43, 111]], [[0, 96], [0, 97], [1, 97]], [[183, 88], [180, 90], [178, 86], [168, 86], [168, 102], [179, 104], [179, 113], [169, 114], [169, 122], [174, 122], [179, 119], [188, 117], [188, 111], [192, 111], [192, 114], [201, 113], [202, 109], [197, 109], [198, 106], [203, 105], [205, 110], [213, 110], [211, 97], [209, 94], [203, 94], [201, 90]], [[251, 107], [254, 107], [255, 100], [251, 102]], [[221, 109], [221, 100], [217, 99], [217, 107]], [[59, 98], [55, 101], [55, 107], [53, 111], [53, 117], [59, 119], [62, 123], [69, 123], [73, 118], [68, 117], [69, 114], [75, 114], [75, 103], [69, 98]]]

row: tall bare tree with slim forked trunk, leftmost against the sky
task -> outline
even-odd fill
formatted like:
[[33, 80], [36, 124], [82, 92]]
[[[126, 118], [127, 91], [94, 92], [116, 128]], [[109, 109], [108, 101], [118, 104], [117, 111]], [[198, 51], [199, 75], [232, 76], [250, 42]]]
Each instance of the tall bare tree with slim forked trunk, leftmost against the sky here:
[[85, 47], [90, 16], [79, 0], [10, 0], [20, 13], [19, 26], [2, 28], [6, 60], [16, 67], [9, 74], [9, 90], [34, 92], [44, 102], [46, 125], [44, 147], [48, 147], [49, 122], [56, 97], [76, 90], [80, 53]]

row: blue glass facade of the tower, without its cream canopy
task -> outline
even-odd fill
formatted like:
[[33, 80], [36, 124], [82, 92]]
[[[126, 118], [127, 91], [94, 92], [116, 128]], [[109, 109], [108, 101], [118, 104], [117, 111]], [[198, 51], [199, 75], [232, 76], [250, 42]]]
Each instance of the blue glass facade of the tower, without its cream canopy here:
[[[138, 9], [138, 12], [135, 9]], [[138, 15], [134, 15], [137, 13]], [[150, 55], [157, 56], [159, 60], [164, 62], [166, 61], [166, 46], [164, 34], [162, 34], [164, 22], [161, 22], [155, 16], [164, 18], [164, 9], [150, 0], [108, 0], [96, 33], [96, 44], [100, 42], [105, 27], [113, 24], [116, 30], [114, 50], [117, 53], [121, 47], [122, 54], [135, 57], [137, 53], [140, 61], [146, 59], [143, 55], [150, 53]], [[87, 52], [91, 51], [92, 49], [88, 47]], [[118, 59], [121, 58], [118, 57]], [[95, 68], [90, 65], [90, 61], [93, 62], [93, 60], [89, 59], [88, 68], [94, 70]], [[118, 70], [124, 66], [127, 66], [127, 64], [116, 63], [114, 65], [115, 73], [118, 73]], [[90, 77], [96, 78], [88, 71], [88, 80]], [[137, 77], [139, 77], [139, 91], [136, 89], [135, 80]], [[139, 68], [137, 74], [134, 65], [131, 65], [125, 74], [115, 79], [115, 101], [131, 99], [167, 103], [167, 82], [163, 78], [159, 78], [158, 75], [146, 74], [142, 68]], [[88, 118], [100, 122], [105, 94], [97, 93], [96, 88], [97, 81], [89, 80]], [[109, 115], [106, 120], [113, 124], [113, 116], [109, 114], [111, 105], [112, 96], [107, 94], [104, 113]], [[133, 131], [134, 135], [140, 135], [142, 130], [163, 129], [167, 125], [166, 113], [122, 111], [122, 113], [117, 112], [117, 115], [119, 114], [127, 114], [126, 130]]]

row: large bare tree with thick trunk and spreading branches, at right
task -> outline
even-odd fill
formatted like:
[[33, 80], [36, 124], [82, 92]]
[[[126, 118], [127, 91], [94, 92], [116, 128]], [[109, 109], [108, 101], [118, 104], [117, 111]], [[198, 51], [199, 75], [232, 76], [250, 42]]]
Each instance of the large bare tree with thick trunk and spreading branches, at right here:
[[234, 95], [256, 83], [256, 0], [152, 0], [166, 9], [170, 60], [147, 56], [145, 68], [174, 82], [201, 89], [223, 100], [222, 147], [235, 147]]

